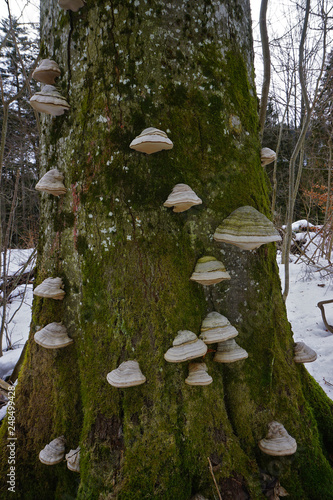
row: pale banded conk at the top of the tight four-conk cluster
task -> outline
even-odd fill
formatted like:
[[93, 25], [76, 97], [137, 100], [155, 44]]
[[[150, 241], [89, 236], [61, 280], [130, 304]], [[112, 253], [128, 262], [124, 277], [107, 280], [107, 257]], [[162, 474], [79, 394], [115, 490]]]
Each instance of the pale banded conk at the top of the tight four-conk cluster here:
[[232, 326], [225, 316], [213, 311], [207, 314], [201, 325], [200, 338], [205, 344], [224, 342], [238, 335], [238, 331]]

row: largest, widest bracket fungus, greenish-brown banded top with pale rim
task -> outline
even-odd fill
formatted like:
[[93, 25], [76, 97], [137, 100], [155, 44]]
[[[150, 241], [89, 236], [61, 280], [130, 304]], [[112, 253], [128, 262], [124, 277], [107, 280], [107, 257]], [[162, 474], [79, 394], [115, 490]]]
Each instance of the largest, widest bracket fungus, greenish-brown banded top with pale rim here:
[[214, 234], [214, 240], [230, 243], [242, 250], [253, 250], [264, 243], [281, 241], [281, 236], [267, 217], [253, 207], [234, 210]]

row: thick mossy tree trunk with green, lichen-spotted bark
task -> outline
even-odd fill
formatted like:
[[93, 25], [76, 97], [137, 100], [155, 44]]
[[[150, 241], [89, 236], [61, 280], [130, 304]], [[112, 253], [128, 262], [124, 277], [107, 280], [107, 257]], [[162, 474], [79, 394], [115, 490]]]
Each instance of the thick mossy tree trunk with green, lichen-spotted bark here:
[[[260, 471], [291, 499], [333, 498], [332, 404], [293, 362], [274, 244], [246, 252], [212, 239], [239, 206], [269, 216], [249, 2], [88, 1], [68, 13], [53, 0], [41, 9], [42, 55], [61, 66], [71, 110], [42, 118], [41, 174], [57, 167], [68, 192], [42, 195], [36, 283], [60, 276], [66, 296], [34, 300], [16, 390], [18, 498], [214, 499], [208, 458], [224, 499], [264, 498]], [[167, 131], [171, 151], [129, 149], [150, 126]], [[202, 205], [164, 208], [176, 183]], [[191, 282], [204, 255], [223, 260], [231, 280]], [[190, 387], [188, 363], [163, 355], [178, 330], [199, 334], [213, 310], [237, 327], [249, 358], [222, 366], [208, 353], [213, 383]], [[71, 346], [34, 342], [53, 321]], [[129, 359], [147, 382], [111, 387], [107, 373]], [[259, 450], [272, 420], [296, 438], [294, 455]], [[66, 450], [80, 444], [80, 474], [38, 461], [60, 435]], [[4, 425], [4, 450], [6, 438]], [[1, 464], [5, 477], [6, 451]]]

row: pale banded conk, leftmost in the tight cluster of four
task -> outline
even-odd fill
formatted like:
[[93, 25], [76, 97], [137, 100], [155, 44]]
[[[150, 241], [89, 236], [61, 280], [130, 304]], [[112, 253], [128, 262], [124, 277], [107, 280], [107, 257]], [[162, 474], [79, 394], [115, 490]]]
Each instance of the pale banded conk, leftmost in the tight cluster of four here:
[[180, 330], [172, 345], [173, 347], [170, 347], [164, 354], [164, 359], [169, 363], [181, 363], [200, 358], [207, 352], [206, 344], [190, 330]]

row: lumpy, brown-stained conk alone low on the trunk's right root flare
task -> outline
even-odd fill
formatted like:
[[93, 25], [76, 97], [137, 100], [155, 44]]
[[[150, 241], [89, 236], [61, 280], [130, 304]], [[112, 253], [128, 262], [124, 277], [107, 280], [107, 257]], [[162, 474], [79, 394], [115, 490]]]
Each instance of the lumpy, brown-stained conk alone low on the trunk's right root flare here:
[[296, 440], [288, 434], [279, 422], [270, 422], [268, 424], [267, 437], [261, 439], [258, 444], [261, 451], [276, 457], [292, 455], [297, 450]]

